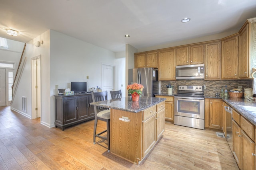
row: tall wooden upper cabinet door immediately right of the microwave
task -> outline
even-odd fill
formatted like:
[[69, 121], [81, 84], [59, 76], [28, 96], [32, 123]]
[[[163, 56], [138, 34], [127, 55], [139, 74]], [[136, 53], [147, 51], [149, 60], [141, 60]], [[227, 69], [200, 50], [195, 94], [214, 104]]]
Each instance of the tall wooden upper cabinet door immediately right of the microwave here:
[[205, 45], [205, 80], [220, 80], [221, 77], [220, 42]]

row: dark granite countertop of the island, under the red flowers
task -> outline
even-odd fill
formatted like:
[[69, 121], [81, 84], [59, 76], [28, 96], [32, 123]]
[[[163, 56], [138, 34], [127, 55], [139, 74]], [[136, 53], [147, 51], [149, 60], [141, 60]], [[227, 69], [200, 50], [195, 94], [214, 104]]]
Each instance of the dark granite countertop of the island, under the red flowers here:
[[105, 100], [101, 102], [92, 102], [91, 105], [107, 107], [110, 109], [118, 109], [138, 113], [148, 107], [154, 106], [166, 100], [165, 98], [140, 97], [138, 102], [133, 102], [132, 97], [124, 97], [119, 99]]

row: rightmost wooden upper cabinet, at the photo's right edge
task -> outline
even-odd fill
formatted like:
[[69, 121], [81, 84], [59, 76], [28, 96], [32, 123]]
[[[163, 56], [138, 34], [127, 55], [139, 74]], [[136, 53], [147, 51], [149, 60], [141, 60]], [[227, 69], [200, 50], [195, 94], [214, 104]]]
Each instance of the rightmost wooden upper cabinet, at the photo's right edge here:
[[256, 18], [248, 19], [239, 31], [239, 78], [250, 78], [256, 67]]

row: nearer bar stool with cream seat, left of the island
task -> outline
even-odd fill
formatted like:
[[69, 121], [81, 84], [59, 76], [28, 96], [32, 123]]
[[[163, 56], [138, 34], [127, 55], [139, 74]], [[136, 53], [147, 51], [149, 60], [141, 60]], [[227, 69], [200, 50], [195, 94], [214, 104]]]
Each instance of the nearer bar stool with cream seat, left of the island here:
[[[108, 91], [92, 92], [93, 102], [100, 102], [104, 100], [108, 100]], [[95, 144], [96, 137], [104, 139], [108, 141], [108, 152], [110, 152], [110, 110], [106, 107], [99, 107], [94, 105], [94, 114], [95, 114], [95, 120], [94, 120], [94, 130], [93, 130], [93, 144]], [[107, 129], [96, 134], [98, 120], [105, 121], [107, 123]], [[107, 132], [107, 137], [101, 136], [105, 132]]]

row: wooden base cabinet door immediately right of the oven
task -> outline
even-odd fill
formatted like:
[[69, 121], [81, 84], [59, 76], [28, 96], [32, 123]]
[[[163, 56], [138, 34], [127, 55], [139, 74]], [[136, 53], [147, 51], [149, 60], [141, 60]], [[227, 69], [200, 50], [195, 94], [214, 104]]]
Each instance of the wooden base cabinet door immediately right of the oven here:
[[210, 124], [209, 127], [222, 130], [223, 101], [210, 100]]

